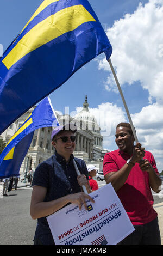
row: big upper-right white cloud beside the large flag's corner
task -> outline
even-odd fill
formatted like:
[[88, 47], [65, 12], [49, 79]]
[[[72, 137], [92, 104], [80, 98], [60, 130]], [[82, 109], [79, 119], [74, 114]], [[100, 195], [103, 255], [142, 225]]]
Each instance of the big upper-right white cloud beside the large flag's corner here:
[[[126, 14], [108, 28], [107, 35], [113, 47], [111, 56], [120, 84], [140, 81], [153, 97], [163, 104], [163, 0], [149, 0], [133, 14]], [[99, 60], [99, 69], [109, 70], [105, 59]], [[106, 90], [116, 90], [114, 78], [108, 77]]]

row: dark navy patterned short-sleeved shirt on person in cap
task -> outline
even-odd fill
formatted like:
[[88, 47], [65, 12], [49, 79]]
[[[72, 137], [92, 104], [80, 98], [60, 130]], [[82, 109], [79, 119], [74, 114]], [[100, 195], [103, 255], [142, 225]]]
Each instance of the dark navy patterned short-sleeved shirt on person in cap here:
[[[68, 194], [81, 192], [77, 181], [77, 173], [73, 166], [73, 155], [68, 164], [57, 151], [55, 154], [37, 166], [32, 186], [47, 188], [44, 202], [56, 200]], [[87, 175], [86, 164], [83, 160], [74, 158], [81, 174]], [[38, 218], [34, 239], [39, 239], [43, 245], [54, 245], [53, 236], [46, 217]]]

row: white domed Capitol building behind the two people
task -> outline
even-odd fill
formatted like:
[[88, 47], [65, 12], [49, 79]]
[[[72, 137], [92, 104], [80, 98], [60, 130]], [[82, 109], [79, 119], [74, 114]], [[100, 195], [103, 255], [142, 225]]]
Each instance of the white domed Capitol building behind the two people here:
[[[36, 106], [30, 108], [2, 133], [0, 138], [2, 138], [5, 143], [8, 143], [10, 138], [23, 124], [24, 120], [26, 120], [35, 107]], [[66, 123], [75, 123], [77, 125], [76, 148], [73, 153], [74, 157], [83, 159], [86, 165], [90, 163], [93, 164], [98, 171], [102, 172], [103, 158], [108, 150], [103, 149], [103, 137], [100, 132], [101, 129], [97, 124], [97, 120], [94, 115], [89, 112], [87, 96], [85, 96], [83, 109], [80, 113], [74, 117], [71, 117], [68, 114], [57, 114], [57, 118], [61, 125], [65, 125]], [[28, 172], [30, 168], [35, 170], [38, 164], [54, 154], [55, 148], [53, 148], [51, 143], [51, 133], [52, 127], [44, 127], [34, 131], [32, 143], [30, 144], [28, 153], [20, 168], [20, 175]]]

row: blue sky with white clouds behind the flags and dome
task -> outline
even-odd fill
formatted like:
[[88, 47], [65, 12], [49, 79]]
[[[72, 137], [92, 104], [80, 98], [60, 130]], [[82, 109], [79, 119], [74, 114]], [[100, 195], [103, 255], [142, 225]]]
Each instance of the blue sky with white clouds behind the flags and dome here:
[[[160, 28], [163, 22], [163, 0], [89, 2], [111, 42], [111, 61], [137, 137], [147, 150], [152, 151], [161, 172], [163, 36]], [[22, 31], [41, 3], [42, 0], [1, 1], [0, 44], [3, 50]], [[81, 110], [85, 94], [90, 112], [96, 115], [102, 127], [104, 148], [115, 150], [115, 126], [120, 121], [128, 121], [128, 118], [104, 54], [87, 63], [49, 96], [54, 109], [64, 114], [65, 107], [69, 107], [70, 114], [74, 115]]]

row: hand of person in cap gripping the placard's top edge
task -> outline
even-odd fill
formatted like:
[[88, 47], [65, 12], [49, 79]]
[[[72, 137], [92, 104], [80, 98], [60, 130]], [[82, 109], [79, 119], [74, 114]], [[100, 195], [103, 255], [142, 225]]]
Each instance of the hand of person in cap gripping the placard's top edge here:
[[79, 210], [82, 210], [82, 205], [84, 205], [85, 210], [87, 210], [87, 205], [85, 200], [89, 199], [92, 203], [95, 203], [95, 200], [93, 200], [88, 194], [85, 194], [84, 192], [79, 192], [75, 194], [68, 195], [70, 203], [78, 204]]

